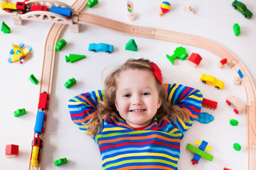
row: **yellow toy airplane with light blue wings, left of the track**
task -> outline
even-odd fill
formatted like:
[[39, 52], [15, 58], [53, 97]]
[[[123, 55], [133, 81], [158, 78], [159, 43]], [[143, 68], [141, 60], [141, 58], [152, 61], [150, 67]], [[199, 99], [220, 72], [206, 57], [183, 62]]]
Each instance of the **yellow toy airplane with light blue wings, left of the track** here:
[[23, 63], [25, 56], [28, 54], [28, 52], [31, 52], [31, 50], [32, 50], [32, 47], [30, 47], [30, 46], [21, 49], [22, 47], [24, 47], [23, 43], [21, 43], [20, 45], [13, 44], [12, 46], [13, 46], [13, 49], [11, 49], [11, 51], [10, 51], [10, 55], [12, 55], [12, 56], [9, 57], [9, 59], [8, 59], [9, 62], [20, 61], [20, 63]]

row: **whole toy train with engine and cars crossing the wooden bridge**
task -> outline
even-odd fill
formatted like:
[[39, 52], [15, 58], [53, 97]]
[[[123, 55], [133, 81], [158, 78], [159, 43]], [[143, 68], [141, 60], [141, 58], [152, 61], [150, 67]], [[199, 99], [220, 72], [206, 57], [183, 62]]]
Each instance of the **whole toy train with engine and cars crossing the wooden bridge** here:
[[7, 13], [18, 11], [18, 13], [23, 14], [29, 11], [50, 11], [52, 13], [57, 13], [66, 18], [70, 18], [72, 16], [71, 8], [51, 6], [50, 9], [48, 9], [46, 6], [38, 5], [32, 5], [30, 8], [28, 8], [28, 6], [26, 6], [25, 4], [25, 1], [16, 2], [16, 4], [3, 1], [1, 2], [1, 9], [6, 11]]

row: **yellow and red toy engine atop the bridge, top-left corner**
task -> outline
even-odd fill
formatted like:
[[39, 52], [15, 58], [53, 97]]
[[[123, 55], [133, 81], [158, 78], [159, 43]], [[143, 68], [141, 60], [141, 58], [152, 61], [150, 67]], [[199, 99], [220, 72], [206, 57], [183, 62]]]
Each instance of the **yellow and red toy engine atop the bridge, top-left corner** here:
[[18, 1], [16, 2], [16, 4], [3, 1], [1, 2], [1, 9], [6, 11], [7, 13], [18, 11], [18, 13], [20, 14], [26, 13], [26, 11], [28, 11], [28, 8], [26, 7], [25, 2], [18, 2]]

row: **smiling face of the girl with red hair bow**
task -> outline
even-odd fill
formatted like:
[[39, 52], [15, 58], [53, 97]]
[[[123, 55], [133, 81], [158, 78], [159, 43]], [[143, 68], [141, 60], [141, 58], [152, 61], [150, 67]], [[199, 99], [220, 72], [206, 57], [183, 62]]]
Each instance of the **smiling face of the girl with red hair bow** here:
[[149, 125], [161, 106], [154, 73], [139, 69], [121, 72], [114, 103], [128, 125], [133, 128]]

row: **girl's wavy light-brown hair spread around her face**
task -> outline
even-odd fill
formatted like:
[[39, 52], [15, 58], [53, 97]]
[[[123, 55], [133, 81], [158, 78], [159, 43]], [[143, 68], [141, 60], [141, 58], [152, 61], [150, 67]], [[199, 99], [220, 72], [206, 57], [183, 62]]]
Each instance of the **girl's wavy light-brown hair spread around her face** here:
[[[119, 74], [128, 69], [148, 70], [149, 72], [152, 72], [151, 62], [142, 58], [137, 60], [129, 59], [118, 69], [115, 69], [112, 73], [110, 73], [105, 79], [105, 95], [103, 97], [103, 101], [100, 101], [100, 104], [97, 106], [97, 114], [93, 115], [87, 124], [87, 135], [93, 137], [95, 134], [100, 132], [100, 127], [107, 117], [120, 117], [117, 108], [114, 105], [118, 85], [117, 80], [119, 78]], [[159, 98], [161, 99], [161, 106], [156, 112], [156, 118], [171, 118], [174, 120], [174, 122], [176, 122], [178, 118], [181, 118], [183, 121], [188, 121], [188, 113], [178, 106], [171, 105], [171, 102], [167, 101], [167, 90], [164, 84], [160, 84], [157, 79], [156, 81], [156, 88], [159, 91]]]

